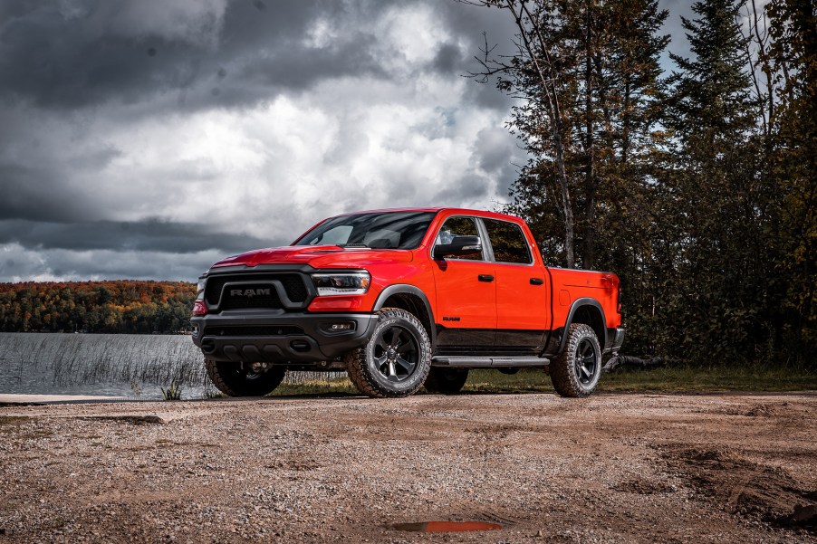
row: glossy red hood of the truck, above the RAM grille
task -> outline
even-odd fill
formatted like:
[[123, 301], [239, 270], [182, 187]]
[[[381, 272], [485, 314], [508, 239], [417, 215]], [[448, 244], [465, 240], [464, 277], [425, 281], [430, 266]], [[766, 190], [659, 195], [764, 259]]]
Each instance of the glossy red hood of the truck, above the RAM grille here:
[[308, 264], [312, 268], [359, 268], [371, 262], [409, 262], [408, 250], [373, 250], [365, 247], [343, 248], [339, 245], [288, 245], [241, 253], [216, 262], [221, 266], [258, 266], [259, 264]]

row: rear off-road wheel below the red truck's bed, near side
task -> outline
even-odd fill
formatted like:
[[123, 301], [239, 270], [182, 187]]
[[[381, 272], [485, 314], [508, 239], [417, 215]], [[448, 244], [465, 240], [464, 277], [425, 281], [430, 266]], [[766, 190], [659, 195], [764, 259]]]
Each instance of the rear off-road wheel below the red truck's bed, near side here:
[[590, 325], [573, 323], [564, 349], [550, 364], [553, 388], [561, 396], [589, 396], [601, 377], [601, 348]]

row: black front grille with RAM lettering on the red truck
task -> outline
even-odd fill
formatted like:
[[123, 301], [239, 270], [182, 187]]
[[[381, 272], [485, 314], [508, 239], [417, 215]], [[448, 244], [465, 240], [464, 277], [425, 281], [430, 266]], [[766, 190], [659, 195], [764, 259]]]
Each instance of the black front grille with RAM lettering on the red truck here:
[[[284, 308], [280, 297], [274, 291], [274, 283], [279, 283], [286, 296], [293, 303], [301, 306], [309, 299], [309, 290], [306, 283], [307, 276], [294, 272], [256, 272], [237, 274], [216, 274], [207, 278], [205, 300], [207, 306], [219, 310], [235, 310], [239, 308]], [[225, 300], [219, 301], [225, 283], [236, 283], [244, 289], [272, 289], [270, 296], [231, 297], [225, 292]], [[237, 288], [238, 286], [236, 286]], [[227, 290], [229, 291], [229, 290]]]

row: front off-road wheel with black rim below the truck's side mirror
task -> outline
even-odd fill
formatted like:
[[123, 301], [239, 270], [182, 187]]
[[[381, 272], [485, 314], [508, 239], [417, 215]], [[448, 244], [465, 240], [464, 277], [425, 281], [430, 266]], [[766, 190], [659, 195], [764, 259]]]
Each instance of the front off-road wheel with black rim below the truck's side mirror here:
[[[431, 367], [428, 333], [406, 310], [384, 308], [378, 314], [369, 342], [346, 354], [349, 379], [360, 393], [373, 398], [413, 395], [423, 387]], [[396, 344], [397, 349], [389, 352]]]

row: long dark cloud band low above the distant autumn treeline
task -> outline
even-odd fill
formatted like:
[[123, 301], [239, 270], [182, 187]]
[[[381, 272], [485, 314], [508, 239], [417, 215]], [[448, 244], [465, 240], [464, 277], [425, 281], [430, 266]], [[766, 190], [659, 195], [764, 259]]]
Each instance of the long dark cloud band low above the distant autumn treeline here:
[[292, 242], [275, 235], [259, 239], [245, 234], [213, 232], [204, 224], [98, 221], [88, 223], [37, 223], [24, 220], [0, 221], [0, 244], [18, 243], [26, 249], [73, 251], [199, 253], [217, 250], [242, 253]]

